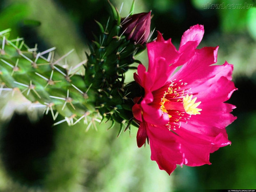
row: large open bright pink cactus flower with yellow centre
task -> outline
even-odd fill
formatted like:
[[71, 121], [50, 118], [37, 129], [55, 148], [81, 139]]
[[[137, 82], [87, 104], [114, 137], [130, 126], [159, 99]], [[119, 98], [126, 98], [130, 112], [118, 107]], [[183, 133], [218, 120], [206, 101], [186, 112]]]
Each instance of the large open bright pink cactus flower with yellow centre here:
[[148, 70], [140, 64], [134, 74], [144, 89], [133, 106], [140, 123], [137, 144], [148, 139], [151, 159], [168, 174], [177, 164], [210, 164], [209, 154], [231, 143], [225, 127], [236, 119], [230, 114], [235, 106], [224, 102], [237, 90], [231, 81], [233, 66], [212, 65], [218, 47], [196, 49], [203, 34], [202, 25], [190, 27], [177, 51], [158, 33], [147, 44]]

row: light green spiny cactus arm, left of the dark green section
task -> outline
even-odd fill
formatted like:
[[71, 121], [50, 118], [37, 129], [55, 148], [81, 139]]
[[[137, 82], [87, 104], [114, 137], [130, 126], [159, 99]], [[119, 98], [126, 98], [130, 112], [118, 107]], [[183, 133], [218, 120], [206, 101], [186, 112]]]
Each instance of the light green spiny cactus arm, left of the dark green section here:
[[37, 52], [28, 48], [23, 38], [8, 39], [9, 32], [0, 32], [1, 94], [20, 91], [31, 102], [45, 106], [45, 113], [51, 112], [54, 119], [61, 114], [68, 124], [89, 114], [97, 116], [95, 93], [87, 88], [84, 75], [77, 74], [86, 61], [65, 69], [59, 63], [72, 51], [54, 59], [55, 48]]

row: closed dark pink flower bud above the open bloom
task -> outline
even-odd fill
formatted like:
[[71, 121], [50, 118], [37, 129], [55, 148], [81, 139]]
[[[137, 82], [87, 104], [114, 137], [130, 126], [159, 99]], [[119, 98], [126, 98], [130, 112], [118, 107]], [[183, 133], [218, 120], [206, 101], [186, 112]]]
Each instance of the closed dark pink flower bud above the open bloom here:
[[150, 36], [151, 12], [138, 13], [122, 19], [122, 32], [128, 40], [143, 44]]

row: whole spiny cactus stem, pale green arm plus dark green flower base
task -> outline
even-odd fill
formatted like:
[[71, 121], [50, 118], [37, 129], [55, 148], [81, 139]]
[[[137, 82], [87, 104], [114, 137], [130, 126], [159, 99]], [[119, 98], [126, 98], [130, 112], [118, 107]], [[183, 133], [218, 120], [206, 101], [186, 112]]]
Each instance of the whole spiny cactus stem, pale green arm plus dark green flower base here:
[[[120, 132], [124, 124], [128, 128], [133, 123], [132, 98], [138, 90], [131, 93], [137, 88], [124, 83], [124, 74], [144, 46], [127, 40], [120, 15], [111, 8], [113, 16], [108, 23], [97, 22], [100, 34], [89, 46], [87, 61], [70, 69], [60, 65], [70, 52], [56, 59], [55, 48], [37, 52], [26, 46], [23, 38], [8, 39], [10, 30], [0, 32], [0, 93], [20, 90], [31, 102], [45, 105], [54, 119], [58, 114], [65, 117], [60, 122], [76, 124], [87, 117], [100, 117], [112, 120], [112, 125], [119, 122]], [[84, 74], [78, 74], [83, 67]]]

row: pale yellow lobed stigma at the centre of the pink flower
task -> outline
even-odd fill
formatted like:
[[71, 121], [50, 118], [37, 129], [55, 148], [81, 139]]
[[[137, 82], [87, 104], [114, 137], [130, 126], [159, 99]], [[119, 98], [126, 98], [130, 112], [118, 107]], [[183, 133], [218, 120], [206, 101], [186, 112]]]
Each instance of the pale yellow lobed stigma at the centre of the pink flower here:
[[198, 105], [201, 103], [201, 101], [195, 103], [197, 100], [197, 97], [195, 97], [194, 99], [192, 99], [192, 97], [193, 95], [189, 95], [189, 96], [186, 95], [185, 97], [183, 97], [183, 107], [185, 112], [189, 115], [201, 114], [200, 111], [202, 111], [202, 109], [197, 108]]

